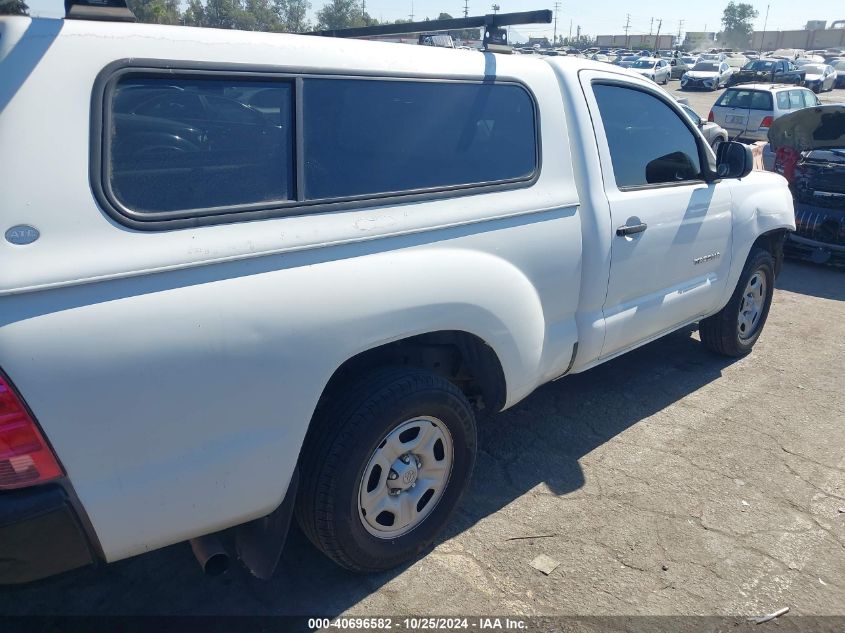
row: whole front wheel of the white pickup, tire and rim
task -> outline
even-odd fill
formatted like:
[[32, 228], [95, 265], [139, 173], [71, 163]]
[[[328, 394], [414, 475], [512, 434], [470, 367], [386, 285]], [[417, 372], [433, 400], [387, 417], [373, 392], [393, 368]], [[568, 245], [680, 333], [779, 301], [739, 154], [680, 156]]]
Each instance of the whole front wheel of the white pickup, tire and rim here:
[[723, 356], [740, 357], [751, 352], [769, 316], [774, 285], [771, 253], [755, 248], [728, 304], [699, 324], [701, 342]]

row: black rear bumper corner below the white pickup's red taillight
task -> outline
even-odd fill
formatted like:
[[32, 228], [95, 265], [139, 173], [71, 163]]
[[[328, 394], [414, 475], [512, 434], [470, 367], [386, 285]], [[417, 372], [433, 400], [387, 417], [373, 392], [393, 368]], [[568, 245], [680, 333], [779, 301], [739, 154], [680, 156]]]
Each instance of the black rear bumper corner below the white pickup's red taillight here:
[[94, 560], [60, 485], [0, 494], [0, 585], [39, 580]]

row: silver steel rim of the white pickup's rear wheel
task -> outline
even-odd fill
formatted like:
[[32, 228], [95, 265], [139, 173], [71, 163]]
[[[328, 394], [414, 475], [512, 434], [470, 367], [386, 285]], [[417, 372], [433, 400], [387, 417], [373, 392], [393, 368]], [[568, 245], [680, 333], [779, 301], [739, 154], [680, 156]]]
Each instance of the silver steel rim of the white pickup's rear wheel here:
[[373, 452], [358, 489], [358, 517], [377, 538], [393, 539], [418, 527], [449, 484], [452, 434], [439, 419], [402, 422]]

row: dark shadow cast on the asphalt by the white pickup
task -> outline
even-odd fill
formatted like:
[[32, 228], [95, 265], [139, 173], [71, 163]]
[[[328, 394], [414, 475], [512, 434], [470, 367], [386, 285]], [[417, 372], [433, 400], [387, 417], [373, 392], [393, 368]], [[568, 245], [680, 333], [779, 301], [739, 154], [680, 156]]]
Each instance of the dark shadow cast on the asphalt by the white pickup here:
[[[443, 539], [539, 484], [564, 495], [584, 484], [578, 460], [717, 379], [730, 359], [686, 328], [583, 374], [550, 383], [479, 426], [473, 483]], [[354, 606], [403, 569], [360, 576], [336, 567], [292, 528], [276, 577], [240, 569], [202, 576], [187, 544], [24, 587], [0, 589], [0, 614], [309, 615]]]

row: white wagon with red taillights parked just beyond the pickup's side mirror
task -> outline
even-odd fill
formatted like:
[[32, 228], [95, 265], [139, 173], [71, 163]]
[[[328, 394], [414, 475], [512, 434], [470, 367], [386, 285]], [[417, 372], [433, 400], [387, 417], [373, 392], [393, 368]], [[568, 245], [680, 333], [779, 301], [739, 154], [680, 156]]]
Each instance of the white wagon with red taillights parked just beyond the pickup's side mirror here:
[[716, 99], [707, 120], [725, 128], [732, 139], [765, 141], [775, 119], [820, 104], [819, 98], [807, 88], [744, 84], [725, 90]]

